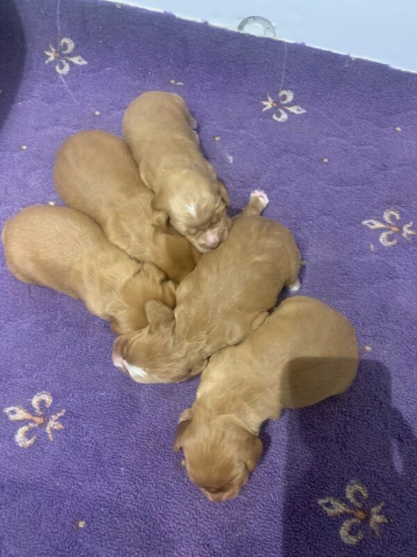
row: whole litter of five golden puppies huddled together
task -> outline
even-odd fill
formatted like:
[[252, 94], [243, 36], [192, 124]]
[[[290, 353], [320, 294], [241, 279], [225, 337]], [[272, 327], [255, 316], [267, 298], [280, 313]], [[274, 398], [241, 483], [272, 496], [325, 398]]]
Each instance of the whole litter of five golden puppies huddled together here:
[[281, 290], [300, 288], [293, 234], [261, 217], [263, 191], [227, 215], [229, 194], [179, 95], [143, 93], [122, 126], [124, 139], [90, 130], [60, 146], [54, 183], [67, 207], [11, 216], [6, 263], [20, 281], [81, 299], [108, 320], [113, 364], [133, 381], [202, 373], [174, 450], [208, 499], [232, 499], [259, 463], [265, 420], [350, 386], [354, 327], [311, 297], [275, 307]]

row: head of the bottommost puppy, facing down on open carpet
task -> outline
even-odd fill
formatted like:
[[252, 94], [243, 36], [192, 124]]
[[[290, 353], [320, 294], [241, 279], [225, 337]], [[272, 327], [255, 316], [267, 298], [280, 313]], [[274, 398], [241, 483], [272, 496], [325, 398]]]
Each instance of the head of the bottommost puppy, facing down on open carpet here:
[[188, 478], [215, 503], [234, 499], [262, 455], [262, 441], [233, 418], [207, 411], [181, 414], [174, 451], [183, 449]]

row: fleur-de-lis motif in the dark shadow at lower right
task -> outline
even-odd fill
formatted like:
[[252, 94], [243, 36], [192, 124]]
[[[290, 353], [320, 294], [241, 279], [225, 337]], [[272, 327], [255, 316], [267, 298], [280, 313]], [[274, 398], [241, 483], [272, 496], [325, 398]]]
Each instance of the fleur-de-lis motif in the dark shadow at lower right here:
[[368, 489], [358, 480], [350, 480], [346, 486], [345, 495], [351, 505], [343, 503], [336, 497], [325, 497], [318, 500], [318, 504], [327, 513], [327, 516], [347, 515], [339, 528], [342, 542], [347, 545], [357, 545], [366, 535], [366, 526], [369, 526], [376, 538], [379, 539], [381, 537], [379, 525], [389, 524], [389, 519], [381, 513], [384, 503], [369, 508], [366, 505]]

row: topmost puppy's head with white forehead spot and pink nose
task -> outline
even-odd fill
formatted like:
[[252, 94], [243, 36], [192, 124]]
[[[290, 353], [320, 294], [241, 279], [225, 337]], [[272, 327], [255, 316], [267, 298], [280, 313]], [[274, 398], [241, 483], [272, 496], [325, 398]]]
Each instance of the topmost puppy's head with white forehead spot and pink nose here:
[[217, 247], [231, 226], [224, 185], [194, 171], [183, 171], [167, 180], [170, 187], [154, 198], [154, 227], [163, 233], [185, 236], [201, 253]]

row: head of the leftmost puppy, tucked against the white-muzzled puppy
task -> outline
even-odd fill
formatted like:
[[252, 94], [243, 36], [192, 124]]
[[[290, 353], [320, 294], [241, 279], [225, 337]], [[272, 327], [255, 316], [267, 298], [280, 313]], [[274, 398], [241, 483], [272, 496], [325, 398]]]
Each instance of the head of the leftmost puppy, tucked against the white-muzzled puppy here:
[[143, 263], [140, 270], [120, 289], [117, 301], [109, 308], [114, 315], [111, 328], [116, 334], [138, 331], [148, 324], [145, 304], [160, 300], [170, 308], [175, 306], [175, 285], [153, 263]]

